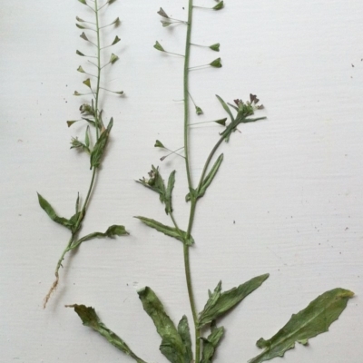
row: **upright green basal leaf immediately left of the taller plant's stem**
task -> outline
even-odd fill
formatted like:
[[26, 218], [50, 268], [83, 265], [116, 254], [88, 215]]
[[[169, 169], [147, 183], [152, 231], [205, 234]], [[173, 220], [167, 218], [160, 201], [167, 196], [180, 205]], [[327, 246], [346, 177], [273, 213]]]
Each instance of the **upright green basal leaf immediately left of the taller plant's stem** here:
[[137, 291], [142, 300], [143, 309], [152, 318], [158, 334], [162, 337], [160, 350], [172, 363], [185, 363], [186, 349], [182, 337], [175, 328], [172, 319], [166, 314], [162, 302], [149, 287]]

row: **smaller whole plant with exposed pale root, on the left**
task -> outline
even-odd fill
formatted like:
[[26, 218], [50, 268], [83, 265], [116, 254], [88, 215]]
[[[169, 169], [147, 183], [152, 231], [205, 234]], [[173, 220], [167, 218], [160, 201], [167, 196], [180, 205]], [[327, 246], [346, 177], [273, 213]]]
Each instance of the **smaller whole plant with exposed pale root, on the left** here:
[[[54, 283], [49, 289], [48, 293], [44, 298], [44, 308], [51, 297], [54, 289], [58, 285], [59, 281], [59, 270], [62, 267], [62, 262], [64, 260], [64, 256], [71, 250], [77, 249], [83, 242], [87, 240], [93, 240], [95, 238], [103, 238], [109, 237], [113, 238], [114, 236], [123, 236], [127, 235], [128, 232], [125, 230], [122, 225], [112, 225], [105, 232], [93, 232], [87, 234], [86, 236], [80, 237], [80, 231], [82, 229], [82, 223], [84, 217], [86, 215], [86, 211], [88, 209], [91, 196], [93, 194], [95, 181], [97, 177], [97, 173], [99, 172], [99, 168], [103, 162], [104, 151], [106, 149], [106, 145], [110, 136], [111, 129], [113, 128], [113, 118], [111, 118], [110, 122], [107, 126], [103, 123], [103, 109], [100, 105], [100, 93], [101, 91], [106, 91], [109, 93], [123, 94], [123, 91], [111, 91], [102, 87], [102, 75], [103, 68], [108, 65], [114, 64], [119, 58], [116, 54], [109, 55], [107, 61], [103, 64], [102, 51], [104, 48], [108, 48], [117, 44], [120, 41], [120, 38], [116, 35], [113, 39], [113, 42], [102, 46], [101, 43], [101, 32], [102, 29], [108, 26], [118, 27], [121, 22], [117, 17], [111, 24], [101, 25], [100, 24], [100, 11], [102, 9], [106, 9], [108, 5], [114, 3], [115, 0], [108, 0], [103, 5], [99, 5], [99, 0], [93, 0], [91, 5], [88, 5], [85, 0], [78, 0], [83, 5], [86, 5], [93, 13], [94, 19], [93, 21], [83, 20], [80, 17], [76, 17], [77, 23], [76, 26], [83, 30], [83, 33], [80, 35], [81, 38], [94, 49], [94, 54], [83, 54], [80, 51], [76, 51], [76, 54], [81, 56], [82, 58], [88, 58], [87, 68], [93, 68], [94, 71], [85, 71], [83, 66], [79, 66], [77, 71], [81, 74], [87, 76], [87, 78], [83, 81], [83, 85], [85, 85], [88, 89], [86, 93], [79, 93], [77, 91], [74, 92], [75, 96], [83, 96], [83, 95], [91, 95], [91, 103], [83, 103], [80, 107], [81, 119], [67, 121], [68, 127], [72, 126], [74, 123], [85, 123], [85, 134], [83, 141], [79, 140], [78, 137], [72, 138], [71, 141], [71, 149], [76, 149], [79, 152], [85, 152], [90, 157], [90, 169], [92, 171], [91, 182], [88, 187], [88, 191], [86, 192], [86, 196], [84, 201], [81, 201], [80, 195], [78, 193], [77, 199], [75, 201], [75, 213], [74, 215], [67, 219], [64, 217], [59, 217], [52, 205], [44, 199], [42, 195], [38, 193], [38, 200], [40, 206], [46, 212], [46, 214], [51, 218], [51, 220], [55, 221], [58, 224], [61, 224], [65, 228], [71, 231], [71, 237], [62, 252], [61, 258], [58, 260], [55, 268], [55, 280]], [[85, 34], [87, 32], [87, 34]], [[88, 76], [91, 76], [88, 77]], [[92, 81], [91, 81], [92, 79]]]

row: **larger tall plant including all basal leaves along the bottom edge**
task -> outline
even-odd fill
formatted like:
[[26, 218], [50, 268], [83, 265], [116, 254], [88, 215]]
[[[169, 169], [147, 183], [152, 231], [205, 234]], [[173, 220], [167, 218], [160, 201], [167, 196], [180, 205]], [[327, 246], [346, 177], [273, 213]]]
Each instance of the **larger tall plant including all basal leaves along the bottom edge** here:
[[[240, 286], [222, 292], [221, 281], [217, 284], [213, 291], [209, 291], [209, 297], [204, 308], [199, 312], [196, 308], [194, 291], [192, 288], [191, 267], [190, 267], [190, 250], [195, 241], [192, 237], [193, 222], [195, 220], [197, 204], [211, 186], [216, 174], [219, 172], [221, 163], [223, 162], [223, 154], [218, 155], [219, 148], [222, 142], [229, 142], [231, 135], [236, 132], [238, 126], [243, 123], [254, 123], [264, 119], [265, 117], [255, 117], [254, 114], [260, 111], [263, 106], [260, 105], [260, 100], [255, 94], [250, 93], [250, 99], [243, 102], [240, 99], [234, 100], [233, 103], [225, 103], [223, 99], [217, 95], [217, 100], [221, 103], [222, 108], [227, 113], [228, 117], [217, 119], [214, 123], [223, 127], [215, 145], [211, 152], [206, 157], [204, 165], [201, 169], [201, 175], [198, 182], [192, 180], [192, 165], [191, 165], [191, 109], [197, 115], [202, 113], [199, 107], [191, 97], [189, 87], [190, 70], [200, 66], [191, 67], [190, 55], [192, 46], [203, 46], [193, 44], [191, 40], [192, 18], [195, 8], [200, 7], [193, 5], [193, 1], [188, 0], [188, 18], [179, 20], [172, 18], [162, 8], [158, 12], [162, 16], [162, 26], [184, 25], [186, 27], [186, 42], [185, 54], [182, 55], [183, 66], [183, 103], [184, 103], [184, 121], [183, 121], [183, 153], [180, 149], [172, 151], [157, 140], [155, 147], [168, 150], [171, 153], [177, 153], [182, 156], [185, 162], [186, 179], [188, 189], [186, 191], [185, 201], [189, 203], [190, 214], [189, 221], [185, 228], [182, 228], [173, 214], [172, 191], [175, 184], [175, 174], [173, 171], [164, 181], [162, 178], [161, 168], [152, 165], [152, 170], [148, 177], [143, 177], [138, 182], [147, 189], [157, 193], [159, 199], [164, 205], [165, 212], [170, 218], [168, 224], [160, 221], [155, 221], [152, 218], [137, 216], [136, 218], [142, 221], [146, 226], [159, 231], [173, 239], [182, 242], [185, 278], [190, 301], [190, 309], [192, 316], [192, 331], [191, 334], [190, 322], [184, 315], [175, 325], [172, 319], [165, 311], [161, 299], [150, 288], [145, 287], [138, 291], [139, 298], [142, 301], [142, 307], [151, 317], [158, 334], [162, 338], [160, 350], [162, 354], [172, 363], [210, 363], [213, 361], [215, 351], [218, 348], [221, 338], [224, 335], [224, 327], [220, 325], [223, 316], [236, 307], [240, 301], [245, 299], [255, 289], [260, 288], [265, 280], [269, 278], [269, 274], [262, 274]], [[211, 7], [213, 11], [223, 9], [223, 1], [218, 1], [216, 5]], [[167, 54], [175, 54], [165, 50], [164, 46], [156, 42], [154, 48], [160, 52]], [[220, 44], [211, 44], [206, 46], [210, 48], [210, 52], [219, 52]], [[209, 64], [201, 66], [211, 66], [221, 68], [221, 58], [217, 58]], [[229, 120], [228, 120], [229, 119]], [[166, 155], [168, 156], [168, 155]], [[166, 157], [162, 157], [162, 160]], [[208, 194], [210, 191], [208, 191]], [[309, 306], [292, 315], [288, 323], [278, 331], [270, 339], [260, 338], [257, 341], [257, 346], [264, 350], [259, 356], [250, 359], [250, 363], [260, 363], [270, 360], [275, 357], [282, 357], [287, 350], [294, 348], [296, 342], [303, 345], [308, 343], [309, 338], [313, 338], [318, 334], [329, 329], [330, 324], [338, 319], [341, 312], [346, 308], [348, 299], [353, 296], [353, 292], [348, 289], [331, 289], [321, 294], [317, 299], [309, 303]], [[106, 338], [114, 347], [119, 348], [123, 353], [132, 357], [136, 362], [144, 363], [145, 360], [139, 358], [132, 349], [118, 337], [112, 330], [108, 329], [101, 319], [97, 316], [95, 310], [84, 305], [72, 305], [76, 313], [83, 321], [83, 325], [88, 326], [104, 338]], [[191, 343], [191, 336], [194, 336], [194, 344]]]

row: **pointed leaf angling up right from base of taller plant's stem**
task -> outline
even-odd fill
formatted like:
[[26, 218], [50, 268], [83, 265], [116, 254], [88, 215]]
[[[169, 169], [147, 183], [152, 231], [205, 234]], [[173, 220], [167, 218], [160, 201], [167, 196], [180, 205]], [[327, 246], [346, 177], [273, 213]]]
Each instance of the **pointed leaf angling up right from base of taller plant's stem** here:
[[204, 325], [221, 317], [228, 310], [234, 308], [240, 301], [246, 298], [252, 291], [260, 288], [260, 285], [269, 277], [269, 274], [257, 276], [238, 288], [229, 289], [221, 292], [221, 281], [214, 289], [204, 309], [201, 311], [198, 319], [198, 327], [201, 329]]

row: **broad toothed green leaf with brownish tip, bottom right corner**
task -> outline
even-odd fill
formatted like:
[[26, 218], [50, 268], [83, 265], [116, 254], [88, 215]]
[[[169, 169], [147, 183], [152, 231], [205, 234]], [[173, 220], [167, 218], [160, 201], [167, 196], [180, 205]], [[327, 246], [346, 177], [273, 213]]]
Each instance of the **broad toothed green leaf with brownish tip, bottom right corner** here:
[[348, 289], [331, 289], [324, 292], [311, 301], [307, 308], [293, 314], [288, 323], [272, 338], [260, 338], [256, 344], [265, 350], [259, 356], [250, 359], [249, 363], [283, 357], [287, 350], [295, 347], [296, 342], [307, 345], [309, 338], [329, 330], [329, 326], [346, 309], [348, 299], [353, 295], [354, 292]]

